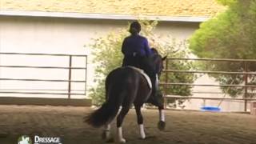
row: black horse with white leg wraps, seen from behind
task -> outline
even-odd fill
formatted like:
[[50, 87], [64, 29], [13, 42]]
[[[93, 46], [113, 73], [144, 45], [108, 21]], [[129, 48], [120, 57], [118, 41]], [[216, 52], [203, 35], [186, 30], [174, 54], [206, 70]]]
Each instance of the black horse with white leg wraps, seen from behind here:
[[[154, 51], [154, 54], [147, 59], [154, 69], [155, 79], [158, 82], [157, 79], [162, 72], [163, 61], [166, 57], [162, 58], [157, 51]], [[131, 66], [117, 68], [111, 71], [106, 77], [106, 102], [98, 110], [87, 116], [86, 122], [94, 127], [105, 126], [103, 135], [106, 140], [109, 140], [110, 122], [113, 121], [118, 114], [120, 106], [122, 106], [117, 117], [117, 140], [118, 142], [126, 142], [122, 137], [122, 121], [130, 110], [130, 107], [134, 104], [138, 117], [139, 133], [141, 138], [144, 139], [146, 135], [141, 113], [141, 107], [144, 103], [148, 102], [154, 106], [158, 106], [160, 118], [158, 128], [162, 130], [165, 126], [162, 94], [159, 90], [156, 91], [156, 93], [152, 93], [152, 89], [146, 78], [136, 68]]]

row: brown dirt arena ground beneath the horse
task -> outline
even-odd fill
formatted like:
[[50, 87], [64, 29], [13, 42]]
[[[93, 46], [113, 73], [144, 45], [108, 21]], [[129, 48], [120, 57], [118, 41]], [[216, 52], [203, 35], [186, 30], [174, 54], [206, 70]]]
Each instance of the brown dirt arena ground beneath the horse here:
[[[72, 106], [0, 106], [0, 144], [16, 144], [20, 135], [61, 137], [64, 144], [98, 144], [102, 129], [82, 122], [93, 109]], [[166, 111], [166, 130], [157, 129], [158, 110], [142, 110], [147, 138], [138, 137], [134, 110], [123, 125], [131, 144], [256, 144], [256, 116], [250, 114]], [[115, 123], [114, 123], [115, 126]], [[113, 134], [115, 128], [112, 129]]]

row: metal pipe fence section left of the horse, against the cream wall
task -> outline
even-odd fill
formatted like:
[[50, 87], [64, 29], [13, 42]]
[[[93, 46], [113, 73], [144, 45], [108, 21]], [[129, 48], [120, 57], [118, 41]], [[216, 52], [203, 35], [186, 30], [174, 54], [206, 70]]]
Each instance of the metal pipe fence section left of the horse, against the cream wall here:
[[[76, 66], [76, 59], [79, 59], [79, 63], [83, 63], [84, 66]], [[54, 65], [52, 65], [52, 63], [54, 63]], [[42, 70], [42, 75], [47, 75], [47, 78], [41, 78], [40, 74], [36, 74], [37, 71], [40, 70]], [[61, 70], [62, 72], [57, 72], [58, 70]], [[74, 70], [80, 70], [79, 74], [83, 74], [83, 79], [75, 80], [72, 78]], [[34, 71], [34, 74], [30, 74], [31, 71]], [[16, 75], [16, 78], [8, 73]], [[54, 73], [57, 76], [58, 74], [62, 74], [63, 77], [54, 78], [54, 76], [51, 76], [51, 73]], [[33, 75], [36, 75], [36, 77], [27, 78], [32, 77]], [[2, 94], [2, 96], [4, 94], [15, 94], [16, 96], [19, 96], [19, 94], [43, 94], [49, 96], [66, 95], [66, 98], [68, 99], [70, 99], [72, 95], [85, 96], [86, 77], [87, 55], [0, 53], [0, 94]], [[5, 88], [7, 82], [9, 82], [10, 86]], [[17, 88], [12, 86], [10, 82], [26, 82], [26, 84], [29, 82], [48, 82], [47, 86], [54, 88], [50, 89], [45, 86], [39, 86], [38, 89], [32, 89], [30, 86], [27, 86], [26, 88]], [[62, 83], [62, 89], [56, 88], [59, 83]], [[75, 85], [76, 83], [84, 85], [83, 88], [79, 90], [72, 89], [72, 85]], [[63, 86], [66, 88], [63, 88]]]

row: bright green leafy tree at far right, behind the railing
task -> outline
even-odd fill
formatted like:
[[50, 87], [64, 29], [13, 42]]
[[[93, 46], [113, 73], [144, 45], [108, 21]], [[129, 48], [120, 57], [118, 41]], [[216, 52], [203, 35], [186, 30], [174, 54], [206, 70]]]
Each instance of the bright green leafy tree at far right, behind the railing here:
[[[227, 10], [207, 22], [190, 38], [190, 50], [200, 58], [256, 58], [256, 1], [218, 0]], [[207, 70], [245, 71], [244, 62], [211, 62], [202, 66]], [[255, 63], [248, 63], [250, 71], [256, 70]], [[210, 74], [220, 84], [242, 85], [240, 74]], [[255, 82], [250, 75], [250, 83]], [[222, 87], [222, 90], [235, 97], [242, 88]]]

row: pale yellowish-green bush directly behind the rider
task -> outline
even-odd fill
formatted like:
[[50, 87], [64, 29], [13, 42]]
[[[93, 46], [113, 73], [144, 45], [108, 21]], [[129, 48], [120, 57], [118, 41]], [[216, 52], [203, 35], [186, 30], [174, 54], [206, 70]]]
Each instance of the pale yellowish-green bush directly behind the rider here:
[[[154, 28], [158, 22], [140, 21], [142, 24], [142, 35], [146, 36], [150, 42], [150, 46], [156, 48], [162, 55], [168, 54], [169, 58], [184, 58], [189, 55], [187, 42], [178, 42], [174, 38], [166, 38], [163, 41], [161, 37], [154, 34]], [[128, 28], [128, 26], [127, 26]], [[93, 39], [90, 47], [93, 50], [94, 63], [97, 64], [95, 73], [97, 74], [95, 82], [97, 86], [90, 89], [90, 97], [93, 98], [95, 105], [100, 105], [105, 100], [105, 78], [111, 70], [122, 65], [122, 41], [129, 33], [127, 29], [117, 30], [106, 34], [100, 38]], [[169, 68], [176, 70], [189, 70], [192, 67], [191, 62], [174, 62], [169, 63]], [[166, 78], [162, 76], [162, 78]], [[194, 82], [194, 74], [168, 74], [169, 82]], [[162, 81], [165, 81], [162, 79]], [[170, 86], [168, 94], [190, 95], [191, 86]]]

